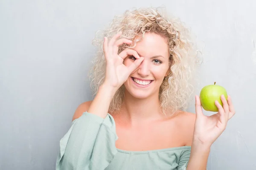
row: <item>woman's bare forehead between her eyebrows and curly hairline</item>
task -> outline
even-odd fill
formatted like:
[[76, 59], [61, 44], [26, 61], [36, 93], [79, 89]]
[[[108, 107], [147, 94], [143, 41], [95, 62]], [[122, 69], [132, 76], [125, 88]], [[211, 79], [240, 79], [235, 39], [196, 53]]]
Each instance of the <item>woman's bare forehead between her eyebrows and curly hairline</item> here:
[[167, 43], [167, 38], [154, 33], [146, 33], [143, 39], [137, 42], [134, 50], [142, 57], [161, 55], [169, 58], [169, 46]]

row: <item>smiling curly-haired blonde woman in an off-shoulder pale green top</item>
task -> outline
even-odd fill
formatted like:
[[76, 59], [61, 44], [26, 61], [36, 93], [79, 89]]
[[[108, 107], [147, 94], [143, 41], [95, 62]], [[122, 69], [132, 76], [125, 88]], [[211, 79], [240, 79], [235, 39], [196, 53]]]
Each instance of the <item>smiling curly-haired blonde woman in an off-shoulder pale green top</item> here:
[[[206, 170], [210, 146], [235, 114], [186, 112], [198, 58], [189, 31], [154, 8], [126, 11], [95, 40], [93, 101], [60, 141], [57, 170]], [[102, 38], [103, 39], [103, 38]]]

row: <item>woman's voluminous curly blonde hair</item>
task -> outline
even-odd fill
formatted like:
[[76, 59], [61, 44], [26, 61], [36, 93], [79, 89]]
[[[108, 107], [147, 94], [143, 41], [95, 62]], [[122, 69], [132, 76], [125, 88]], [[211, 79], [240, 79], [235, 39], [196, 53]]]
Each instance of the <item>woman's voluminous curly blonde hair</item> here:
[[[194, 92], [196, 66], [199, 63], [198, 50], [192, 41], [190, 30], [185, 28], [179, 19], [166, 17], [160, 8], [138, 8], [125, 11], [103, 30], [96, 33], [93, 45], [99, 47], [90, 70], [91, 88], [95, 96], [105, 78], [105, 57], [103, 53], [103, 37], [110, 40], [119, 31], [120, 38], [134, 42], [146, 32], [159, 34], [168, 39], [170, 54], [170, 74], [163, 80], [159, 91], [159, 100], [164, 114], [173, 114], [178, 110], [186, 111]], [[135, 43], [136, 45], [136, 43]], [[119, 46], [119, 52], [127, 48]], [[128, 47], [129, 48], [129, 47]], [[131, 47], [132, 48], [132, 47]], [[124, 85], [114, 95], [109, 112], [119, 111], [124, 100]]]

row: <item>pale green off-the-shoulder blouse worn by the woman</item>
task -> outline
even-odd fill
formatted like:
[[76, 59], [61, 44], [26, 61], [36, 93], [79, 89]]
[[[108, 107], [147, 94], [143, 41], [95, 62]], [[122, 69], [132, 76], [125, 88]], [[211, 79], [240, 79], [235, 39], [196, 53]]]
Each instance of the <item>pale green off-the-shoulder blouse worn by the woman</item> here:
[[190, 146], [126, 151], [115, 146], [113, 117], [84, 112], [60, 140], [56, 170], [186, 170]]

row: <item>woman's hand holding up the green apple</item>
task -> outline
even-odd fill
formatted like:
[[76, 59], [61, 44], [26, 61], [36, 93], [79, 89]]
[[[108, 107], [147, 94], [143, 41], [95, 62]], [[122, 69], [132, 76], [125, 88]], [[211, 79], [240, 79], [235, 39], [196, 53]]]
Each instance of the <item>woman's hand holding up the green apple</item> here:
[[203, 144], [204, 146], [210, 147], [226, 129], [228, 120], [235, 114], [235, 109], [230, 96], [228, 96], [226, 100], [224, 95], [221, 95], [221, 101], [223, 107], [218, 101], [215, 101], [218, 113], [205, 116], [200, 98], [199, 96], [195, 96], [196, 119], [193, 136], [194, 144]]

